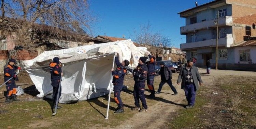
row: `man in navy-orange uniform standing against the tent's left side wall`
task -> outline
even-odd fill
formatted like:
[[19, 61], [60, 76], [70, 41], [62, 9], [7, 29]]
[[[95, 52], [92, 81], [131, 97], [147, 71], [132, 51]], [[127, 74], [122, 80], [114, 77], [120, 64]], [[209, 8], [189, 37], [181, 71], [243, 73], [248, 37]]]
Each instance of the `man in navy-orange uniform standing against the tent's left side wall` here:
[[[63, 73], [61, 71], [61, 64], [59, 62], [59, 58], [58, 57], [54, 57], [53, 58], [53, 62], [51, 62], [49, 64], [50, 66], [50, 73], [51, 73], [51, 81], [52, 81], [52, 86], [53, 86], [53, 107], [52, 109], [54, 109], [56, 107], [56, 101], [57, 98], [60, 97], [61, 95], [61, 85], [59, 85], [59, 81], [60, 81], [60, 75], [62, 76]], [[57, 97], [58, 94], [58, 88], [60, 87], [60, 93], [59, 93], [59, 97]], [[61, 108], [61, 106], [57, 105], [57, 108]]]

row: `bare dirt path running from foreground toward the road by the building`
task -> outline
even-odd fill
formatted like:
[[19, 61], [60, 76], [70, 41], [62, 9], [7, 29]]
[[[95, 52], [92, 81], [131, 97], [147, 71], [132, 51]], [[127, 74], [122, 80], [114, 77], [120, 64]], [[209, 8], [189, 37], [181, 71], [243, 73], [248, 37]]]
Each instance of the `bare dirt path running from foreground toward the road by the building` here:
[[[224, 71], [224, 70], [212, 70], [211, 74], [205, 74], [205, 69], [199, 69], [203, 80], [203, 86], [209, 87], [213, 85], [213, 79], [219, 76], [256, 76], [256, 72], [245, 72], [245, 71]], [[179, 73], [173, 74], [173, 85], [176, 88], [178, 95], [171, 95], [173, 92], [169, 89], [162, 90], [161, 94], [156, 94], [156, 97], [161, 97], [162, 99], [151, 107], [148, 107], [147, 112], [136, 112], [136, 114], [125, 121], [122, 125], [115, 128], [162, 128], [164, 123], [168, 121], [168, 116], [170, 116], [177, 109], [183, 108], [185, 98], [184, 90], [176, 84], [177, 76]], [[156, 85], [156, 84], [155, 84]], [[166, 87], [167, 84], [164, 85]], [[158, 86], [156, 85], [157, 89]], [[170, 119], [170, 118], [169, 118]]]

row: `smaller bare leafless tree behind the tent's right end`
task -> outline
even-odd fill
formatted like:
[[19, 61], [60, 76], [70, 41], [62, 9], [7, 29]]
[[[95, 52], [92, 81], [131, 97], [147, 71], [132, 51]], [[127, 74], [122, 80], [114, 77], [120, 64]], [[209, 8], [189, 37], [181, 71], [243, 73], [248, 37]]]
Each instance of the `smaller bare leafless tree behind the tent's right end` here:
[[158, 57], [164, 50], [171, 47], [171, 39], [159, 32], [154, 32], [152, 25], [147, 22], [134, 29], [134, 41], [142, 47], [146, 47], [153, 55]]

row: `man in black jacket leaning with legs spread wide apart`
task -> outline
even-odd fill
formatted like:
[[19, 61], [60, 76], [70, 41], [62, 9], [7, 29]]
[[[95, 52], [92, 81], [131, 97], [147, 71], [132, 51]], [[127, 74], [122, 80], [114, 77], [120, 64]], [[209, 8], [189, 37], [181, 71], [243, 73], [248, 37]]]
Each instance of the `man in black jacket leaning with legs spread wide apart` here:
[[177, 95], [178, 92], [176, 91], [175, 87], [172, 86], [172, 71], [167, 66], [165, 66], [164, 62], [161, 62], [160, 66], [161, 66], [161, 69], [158, 73], [155, 74], [155, 76], [161, 75], [161, 82], [155, 94], [160, 94], [163, 84], [167, 82], [167, 84], [170, 86], [170, 88], [174, 92], [173, 95]]

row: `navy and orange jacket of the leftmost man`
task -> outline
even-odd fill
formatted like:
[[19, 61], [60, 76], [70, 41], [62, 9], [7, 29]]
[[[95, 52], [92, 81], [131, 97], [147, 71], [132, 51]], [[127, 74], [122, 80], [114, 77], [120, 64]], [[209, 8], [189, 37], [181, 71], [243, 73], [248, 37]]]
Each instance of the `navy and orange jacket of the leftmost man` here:
[[4, 66], [4, 82], [13, 77], [11, 80], [9, 80], [6, 83], [14, 83], [14, 75], [16, 74], [15, 70], [17, 67], [11, 66], [10, 64], [6, 64]]

